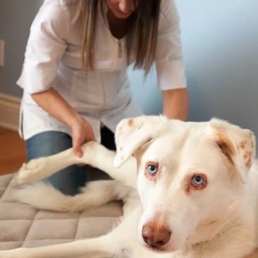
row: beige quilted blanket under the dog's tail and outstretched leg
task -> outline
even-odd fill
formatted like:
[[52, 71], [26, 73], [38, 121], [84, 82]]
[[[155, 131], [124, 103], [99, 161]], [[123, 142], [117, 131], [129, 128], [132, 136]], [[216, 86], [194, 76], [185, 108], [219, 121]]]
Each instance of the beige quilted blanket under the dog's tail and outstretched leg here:
[[0, 177], [0, 250], [93, 238], [119, 222], [122, 206], [112, 202], [80, 213], [40, 211], [14, 198], [16, 174]]

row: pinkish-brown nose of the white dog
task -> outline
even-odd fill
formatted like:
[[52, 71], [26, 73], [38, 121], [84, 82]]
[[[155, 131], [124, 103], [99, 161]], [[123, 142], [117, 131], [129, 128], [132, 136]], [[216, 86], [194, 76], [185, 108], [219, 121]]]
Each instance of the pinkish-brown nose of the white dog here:
[[163, 247], [170, 240], [171, 231], [166, 225], [147, 223], [143, 225], [141, 235], [147, 245], [151, 247]]

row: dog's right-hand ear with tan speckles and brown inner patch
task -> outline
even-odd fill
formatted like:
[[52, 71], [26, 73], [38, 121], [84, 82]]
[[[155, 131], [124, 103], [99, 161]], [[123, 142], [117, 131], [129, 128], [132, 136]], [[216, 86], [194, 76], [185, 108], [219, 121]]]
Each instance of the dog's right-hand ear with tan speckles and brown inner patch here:
[[211, 119], [210, 124], [215, 129], [218, 147], [245, 183], [255, 156], [254, 134], [219, 119]]

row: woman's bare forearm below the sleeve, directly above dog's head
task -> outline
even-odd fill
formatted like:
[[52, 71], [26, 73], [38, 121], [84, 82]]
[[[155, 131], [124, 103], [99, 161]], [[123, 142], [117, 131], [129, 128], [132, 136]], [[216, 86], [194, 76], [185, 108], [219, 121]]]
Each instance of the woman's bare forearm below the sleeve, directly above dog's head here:
[[169, 119], [187, 120], [188, 91], [187, 88], [163, 90], [163, 115]]

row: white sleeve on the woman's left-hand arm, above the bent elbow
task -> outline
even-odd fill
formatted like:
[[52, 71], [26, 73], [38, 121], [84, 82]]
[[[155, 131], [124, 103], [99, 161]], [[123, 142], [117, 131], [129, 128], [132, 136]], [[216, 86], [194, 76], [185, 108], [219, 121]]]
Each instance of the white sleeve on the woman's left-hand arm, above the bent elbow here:
[[26, 92], [52, 87], [59, 60], [66, 50], [70, 14], [68, 6], [45, 1], [30, 27], [23, 71], [17, 81]]

